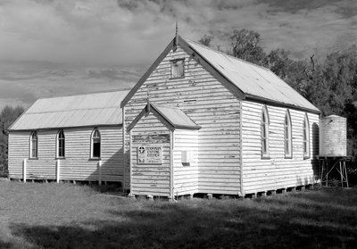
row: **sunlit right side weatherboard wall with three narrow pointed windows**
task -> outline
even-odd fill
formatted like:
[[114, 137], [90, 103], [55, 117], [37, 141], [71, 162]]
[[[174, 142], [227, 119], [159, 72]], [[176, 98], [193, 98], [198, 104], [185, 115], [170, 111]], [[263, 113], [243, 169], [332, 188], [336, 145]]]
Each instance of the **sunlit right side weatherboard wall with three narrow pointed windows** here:
[[245, 194], [311, 184], [318, 174], [311, 162], [317, 153], [319, 115], [308, 113], [311, 157], [303, 158], [303, 119], [306, 112], [289, 109], [292, 121], [293, 158], [285, 158], [284, 120], [286, 108], [267, 105], [270, 159], [262, 159], [261, 117], [263, 104], [242, 101], [242, 163]]

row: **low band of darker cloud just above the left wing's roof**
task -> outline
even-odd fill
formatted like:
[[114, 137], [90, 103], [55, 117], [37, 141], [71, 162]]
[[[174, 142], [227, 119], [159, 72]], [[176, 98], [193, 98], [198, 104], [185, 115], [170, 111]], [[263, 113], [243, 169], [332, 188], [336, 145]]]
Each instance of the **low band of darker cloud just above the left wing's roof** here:
[[[55, 63], [36, 62], [32, 69], [27, 62], [0, 63], [0, 110], [6, 104], [28, 107], [44, 96], [73, 95], [130, 88], [144, 71], [129, 67], [62, 68]], [[13, 68], [13, 70], [12, 70]]]

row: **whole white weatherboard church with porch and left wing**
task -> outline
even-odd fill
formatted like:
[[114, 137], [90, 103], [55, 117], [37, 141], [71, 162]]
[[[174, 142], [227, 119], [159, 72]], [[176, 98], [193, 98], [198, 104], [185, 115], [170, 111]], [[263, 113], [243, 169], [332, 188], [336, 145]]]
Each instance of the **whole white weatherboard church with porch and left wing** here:
[[10, 128], [9, 176], [170, 198], [305, 186], [319, 114], [270, 70], [177, 36], [130, 91], [37, 100]]

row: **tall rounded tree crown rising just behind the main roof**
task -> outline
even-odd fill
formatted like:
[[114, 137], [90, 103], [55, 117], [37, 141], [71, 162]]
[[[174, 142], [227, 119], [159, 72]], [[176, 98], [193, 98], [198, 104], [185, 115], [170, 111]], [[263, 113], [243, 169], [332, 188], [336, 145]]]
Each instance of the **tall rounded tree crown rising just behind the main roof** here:
[[232, 55], [247, 62], [262, 64], [266, 57], [261, 43], [261, 35], [248, 29], [234, 29], [229, 37]]

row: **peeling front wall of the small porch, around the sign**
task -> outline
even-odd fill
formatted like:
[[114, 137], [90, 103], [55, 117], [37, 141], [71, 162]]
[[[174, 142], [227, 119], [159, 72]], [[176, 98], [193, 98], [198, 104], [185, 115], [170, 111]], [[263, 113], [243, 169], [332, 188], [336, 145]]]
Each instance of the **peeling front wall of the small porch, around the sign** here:
[[[150, 128], [150, 129], [148, 129]], [[131, 189], [133, 195], [170, 196], [170, 130], [153, 114], [131, 129]], [[162, 145], [162, 164], [138, 164], [137, 147]]]

